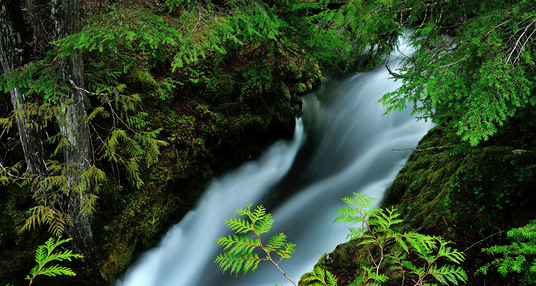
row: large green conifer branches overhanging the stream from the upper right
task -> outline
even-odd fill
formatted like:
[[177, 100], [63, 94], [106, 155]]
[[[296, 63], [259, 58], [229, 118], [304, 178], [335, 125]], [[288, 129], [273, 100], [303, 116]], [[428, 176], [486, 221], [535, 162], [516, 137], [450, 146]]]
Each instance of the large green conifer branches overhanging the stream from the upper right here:
[[[532, 114], [536, 105], [536, 4], [456, 5], [444, 1], [431, 5], [431, 13], [420, 11], [428, 16], [407, 39], [416, 51], [405, 58], [400, 74], [392, 74], [403, 86], [380, 101], [389, 106], [386, 113], [411, 104], [419, 118], [453, 120], [462, 140], [477, 145], [512, 116]], [[466, 11], [473, 16], [467, 18]]]

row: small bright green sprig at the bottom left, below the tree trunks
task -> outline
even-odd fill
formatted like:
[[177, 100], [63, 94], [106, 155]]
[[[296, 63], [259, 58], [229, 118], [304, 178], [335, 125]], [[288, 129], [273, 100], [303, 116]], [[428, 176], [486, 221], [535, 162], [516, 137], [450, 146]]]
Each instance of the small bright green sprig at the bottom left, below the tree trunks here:
[[72, 253], [72, 250], [65, 250], [65, 251], [56, 251], [56, 248], [66, 243], [67, 241], [71, 240], [71, 238], [68, 239], [61, 239], [59, 237], [56, 241], [54, 241], [53, 238], [49, 238], [44, 245], [38, 246], [37, 250], [35, 250], [35, 262], [37, 262], [37, 265], [30, 270], [30, 274], [26, 276], [26, 279], [30, 281], [30, 285], [32, 284], [33, 280], [38, 275], [45, 275], [45, 276], [56, 276], [56, 275], [68, 275], [68, 276], [75, 276], [76, 273], [73, 272], [73, 270], [69, 267], [63, 267], [59, 266], [59, 264], [56, 264], [54, 266], [46, 266], [47, 263], [51, 261], [63, 261], [63, 260], [69, 260], [72, 261], [73, 258], [83, 258], [84, 256], [80, 254]]

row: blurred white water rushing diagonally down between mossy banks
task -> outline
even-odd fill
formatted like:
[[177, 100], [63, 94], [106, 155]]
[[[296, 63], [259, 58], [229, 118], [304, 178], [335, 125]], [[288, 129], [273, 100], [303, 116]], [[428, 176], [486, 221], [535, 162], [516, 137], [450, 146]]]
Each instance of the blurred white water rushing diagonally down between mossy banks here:
[[323, 253], [344, 242], [347, 226], [332, 224], [344, 205], [340, 198], [360, 192], [381, 199], [410, 154], [391, 149], [414, 147], [432, 126], [408, 111], [381, 117], [385, 109], [376, 101], [399, 86], [388, 77], [378, 68], [331, 79], [304, 97], [294, 140], [277, 142], [255, 162], [215, 178], [196, 209], [117, 285], [290, 284], [268, 262], [237, 277], [222, 274], [213, 262], [222, 252], [214, 240], [229, 233], [222, 220], [249, 203], [264, 204], [275, 219], [272, 234], [284, 232], [297, 245], [293, 257], [280, 263], [297, 283]]

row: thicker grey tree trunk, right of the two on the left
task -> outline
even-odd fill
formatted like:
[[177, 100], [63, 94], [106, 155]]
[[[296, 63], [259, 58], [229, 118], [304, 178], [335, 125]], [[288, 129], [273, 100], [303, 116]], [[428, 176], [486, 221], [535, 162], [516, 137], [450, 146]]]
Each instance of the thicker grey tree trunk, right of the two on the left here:
[[[43, 51], [50, 49], [50, 42], [63, 36], [80, 32], [79, 0], [25, 0], [35, 38]], [[84, 89], [84, 63], [81, 55], [73, 55], [62, 64], [63, 78], [67, 83], [74, 83], [64, 93], [73, 103], [64, 110], [65, 120], [59, 124], [59, 130], [68, 139], [69, 144], [63, 149], [66, 164], [76, 163], [81, 171], [90, 168], [90, 132], [86, 123], [86, 94]], [[77, 89], [78, 87], [78, 89]], [[71, 178], [71, 184], [77, 184], [77, 178]], [[81, 202], [91, 189], [71, 193], [64, 201], [67, 214], [73, 218], [73, 226], [68, 233], [78, 251], [86, 257], [93, 256], [95, 241], [91, 230], [90, 214], [81, 214]]]

